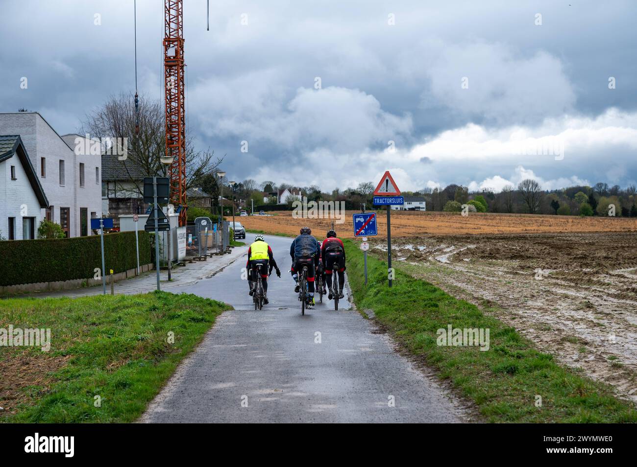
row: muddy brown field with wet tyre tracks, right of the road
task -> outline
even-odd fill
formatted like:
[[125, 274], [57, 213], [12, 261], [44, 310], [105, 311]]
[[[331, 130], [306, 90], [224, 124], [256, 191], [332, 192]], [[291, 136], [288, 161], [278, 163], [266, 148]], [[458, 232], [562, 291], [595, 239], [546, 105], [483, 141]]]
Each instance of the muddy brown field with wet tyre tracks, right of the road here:
[[[370, 244], [387, 259], [382, 239]], [[637, 401], [637, 233], [426, 235], [392, 249], [393, 265]]]

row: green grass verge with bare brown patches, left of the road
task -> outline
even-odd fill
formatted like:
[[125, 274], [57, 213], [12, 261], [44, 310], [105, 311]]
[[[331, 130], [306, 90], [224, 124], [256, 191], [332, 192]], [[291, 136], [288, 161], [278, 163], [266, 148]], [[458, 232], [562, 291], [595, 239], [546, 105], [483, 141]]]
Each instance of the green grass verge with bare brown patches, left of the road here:
[[134, 421], [227, 309], [167, 292], [0, 300], [0, 329], [51, 333], [48, 352], [0, 347], [0, 422]]

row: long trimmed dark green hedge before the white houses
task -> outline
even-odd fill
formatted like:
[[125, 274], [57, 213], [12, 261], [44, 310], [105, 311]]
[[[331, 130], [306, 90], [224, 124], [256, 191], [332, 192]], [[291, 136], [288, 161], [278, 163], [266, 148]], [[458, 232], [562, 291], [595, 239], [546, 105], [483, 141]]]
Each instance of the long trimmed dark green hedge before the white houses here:
[[[140, 265], [151, 262], [150, 234], [138, 232]], [[90, 279], [102, 268], [99, 235], [71, 239], [13, 240], [0, 242], [0, 286], [34, 282]], [[135, 232], [104, 235], [106, 272], [137, 267]]]

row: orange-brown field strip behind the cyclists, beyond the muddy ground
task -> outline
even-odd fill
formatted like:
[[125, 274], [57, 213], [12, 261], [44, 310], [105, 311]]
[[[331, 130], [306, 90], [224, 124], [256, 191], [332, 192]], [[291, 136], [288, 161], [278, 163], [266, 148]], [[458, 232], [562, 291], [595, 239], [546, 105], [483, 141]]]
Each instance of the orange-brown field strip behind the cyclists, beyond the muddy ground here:
[[[353, 238], [352, 214], [345, 213], [345, 223], [334, 221], [339, 237]], [[332, 226], [329, 219], [294, 218], [292, 211], [276, 211], [270, 216], [238, 218], [248, 230], [297, 235], [307, 225], [317, 237], [323, 237]], [[378, 237], [387, 232], [386, 213], [379, 211]], [[532, 214], [470, 213], [464, 217], [457, 213], [422, 213], [392, 211], [392, 236], [415, 237], [425, 233], [454, 235], [466, 233], [558, 233], [558, 232], [637, 232], [637, 218], [580, 218], [576, 216], [540, 216]]]

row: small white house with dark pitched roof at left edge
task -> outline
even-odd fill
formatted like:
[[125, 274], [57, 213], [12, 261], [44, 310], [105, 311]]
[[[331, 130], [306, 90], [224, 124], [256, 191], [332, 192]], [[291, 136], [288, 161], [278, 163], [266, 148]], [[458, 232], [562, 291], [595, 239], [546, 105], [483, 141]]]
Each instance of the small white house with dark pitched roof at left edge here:
[[47, 207], [47, 195], [22, 139], [0, 136], [0, 238], [36, 238], [42, 210]]

